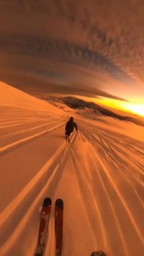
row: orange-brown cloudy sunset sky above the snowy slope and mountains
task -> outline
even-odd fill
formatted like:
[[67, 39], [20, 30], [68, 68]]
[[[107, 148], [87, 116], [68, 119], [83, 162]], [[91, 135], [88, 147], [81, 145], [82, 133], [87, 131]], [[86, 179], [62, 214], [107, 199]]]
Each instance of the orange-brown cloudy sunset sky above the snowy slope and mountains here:
[[144, 116], [143, 0], [0, 2], [0, 80]]

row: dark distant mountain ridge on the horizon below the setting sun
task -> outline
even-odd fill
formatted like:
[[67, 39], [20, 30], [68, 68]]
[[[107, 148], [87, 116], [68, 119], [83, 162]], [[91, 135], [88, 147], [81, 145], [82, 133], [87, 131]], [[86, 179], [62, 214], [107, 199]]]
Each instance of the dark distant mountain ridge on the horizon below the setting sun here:
[[144, 126], [144, 122], [142, 122], [142, 120], [136, 119], [134, 117], [115, 114], [109, 109], [103, 108], [93, 102], [87, 102], [75, 97], [64, 97], [64, 98], [59, 98], [59, 100], [63, 101], [63, 103], [67, 104], [67, 106], [73, 109], [90, 108], [90, 109], [93, 109], [93, 112], [100, 112], [101, 114], [107, 115], [109, 117], [115, 117], [119, 120], [125, 120], [128, 122], [135, 123], [136, 125]]

